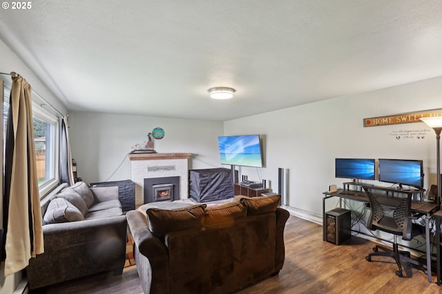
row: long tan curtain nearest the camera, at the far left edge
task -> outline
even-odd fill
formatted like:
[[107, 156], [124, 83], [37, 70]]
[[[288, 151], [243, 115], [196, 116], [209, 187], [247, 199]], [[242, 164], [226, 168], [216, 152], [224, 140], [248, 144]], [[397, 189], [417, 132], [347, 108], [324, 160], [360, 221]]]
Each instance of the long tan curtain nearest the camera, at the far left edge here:
[[31, 87], [20, 75], [12, 77], [6, 134], [3, 210], [6, 215], [5, 275], [28, 266], [44, 252]]

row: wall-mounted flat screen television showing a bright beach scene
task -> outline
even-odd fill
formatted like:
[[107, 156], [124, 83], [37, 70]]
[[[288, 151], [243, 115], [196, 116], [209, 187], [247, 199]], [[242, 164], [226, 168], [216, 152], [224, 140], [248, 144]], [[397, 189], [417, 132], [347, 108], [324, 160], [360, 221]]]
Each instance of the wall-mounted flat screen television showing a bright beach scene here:
[[221, 164], [262, 168], [262, 148], [259, 135], [218, 137]]

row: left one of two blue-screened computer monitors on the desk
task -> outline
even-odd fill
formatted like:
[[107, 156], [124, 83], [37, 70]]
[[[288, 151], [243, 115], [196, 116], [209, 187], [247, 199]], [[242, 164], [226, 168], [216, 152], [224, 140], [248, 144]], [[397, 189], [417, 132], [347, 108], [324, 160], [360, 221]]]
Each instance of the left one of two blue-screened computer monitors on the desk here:
[[349, 179], [376, 179], [375, 159], [336, 158], [335, 176]]

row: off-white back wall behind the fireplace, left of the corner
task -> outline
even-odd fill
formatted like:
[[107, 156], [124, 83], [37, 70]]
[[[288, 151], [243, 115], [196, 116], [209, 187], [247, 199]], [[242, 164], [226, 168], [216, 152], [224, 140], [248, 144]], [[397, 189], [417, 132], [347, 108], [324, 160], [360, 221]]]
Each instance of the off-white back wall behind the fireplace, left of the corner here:
[[153, 139], [158, 153], [192, 153], [191, 169], [220, 167], [220, 121], [71, 112], [69, 131], [78, 176], [88, 184], [131, 179], [126, 155], [133, 150], [131, 146], [146, 141], [155, 127], [165, 133], [163, 139]]

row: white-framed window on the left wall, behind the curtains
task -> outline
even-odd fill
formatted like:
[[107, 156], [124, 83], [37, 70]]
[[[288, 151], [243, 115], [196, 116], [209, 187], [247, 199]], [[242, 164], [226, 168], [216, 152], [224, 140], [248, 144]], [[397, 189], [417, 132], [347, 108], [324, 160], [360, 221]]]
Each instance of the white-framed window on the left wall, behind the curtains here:
[[[6, 140], [6, 123], [8, 120], [9, 97], [11, 81], [4, 80], [3, 101], [3, 157]], [[58, 154], [59, 154], [59, 120], [35, 101], [39, 96], [32, 91], [32, 111], [34, 126], [35, 155], [37, 159], [37, 177], [40, 197], [46, 195], [59, 182]]]

